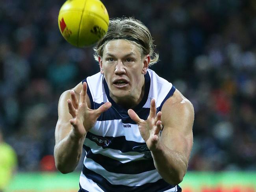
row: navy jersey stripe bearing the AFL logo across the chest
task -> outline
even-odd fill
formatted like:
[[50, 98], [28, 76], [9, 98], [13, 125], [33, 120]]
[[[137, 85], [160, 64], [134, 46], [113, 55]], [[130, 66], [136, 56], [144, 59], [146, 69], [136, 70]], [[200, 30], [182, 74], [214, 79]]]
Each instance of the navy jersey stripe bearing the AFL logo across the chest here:
[[[129, 129], [129, 128], [128, 128]], [[119, 137], [102, 137], [99, 135], [95, 135], [91, 132], [87, 132], [86, 138], [90, 139], [91, 141], [95, 142], [98, 146], [102, 146], [102, 148], [110, 148], [113, 150], [120, 150], [122, 153], [126, 152], [147, 152], [150, 151], [147, 147], [145, 142], [135, 142], [135, 141], [128, 141], [125, 139], [125, 136]], [[141, 150], [138, 148], [141, 146]]]

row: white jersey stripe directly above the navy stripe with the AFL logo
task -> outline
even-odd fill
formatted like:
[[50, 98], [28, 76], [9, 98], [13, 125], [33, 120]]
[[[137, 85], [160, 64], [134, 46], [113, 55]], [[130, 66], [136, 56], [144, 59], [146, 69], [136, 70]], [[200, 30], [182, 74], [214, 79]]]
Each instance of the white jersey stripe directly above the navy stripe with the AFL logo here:
[[145, 141], [139, 133], [138, 126], [134, 124], [130, 125], [131, 127], [124, 128], [121, 119], [96, 121], [94, 127], [90, 129], [90, 132], [103, 137], [125, 136], [126, 140], [144, 143]]

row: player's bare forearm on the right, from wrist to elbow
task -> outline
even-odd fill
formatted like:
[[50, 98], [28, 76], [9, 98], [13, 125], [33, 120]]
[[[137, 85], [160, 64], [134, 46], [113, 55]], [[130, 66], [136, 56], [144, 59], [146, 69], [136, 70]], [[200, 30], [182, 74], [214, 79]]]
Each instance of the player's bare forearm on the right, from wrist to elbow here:
[[187, 171], [187, 159], [178, 151], [167, 148], [160, 142], [157, 150], [151, 151], [154, 165], [163, 179], [171, 185], [177, 185]]

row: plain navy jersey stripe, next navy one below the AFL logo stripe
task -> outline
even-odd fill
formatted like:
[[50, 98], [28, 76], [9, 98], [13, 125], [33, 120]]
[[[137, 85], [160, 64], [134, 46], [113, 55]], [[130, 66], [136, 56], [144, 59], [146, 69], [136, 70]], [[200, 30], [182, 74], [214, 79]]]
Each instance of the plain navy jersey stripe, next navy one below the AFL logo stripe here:
[[117, 174], [140, 174], [155, 170], [153, 159], [137, 160], [122, 163], [118, 160], [106, 157], [101, 154], [94, 154], [91, 148], [83, 145], [86, 151], [86, 157], [100, 164], [105, 170]]

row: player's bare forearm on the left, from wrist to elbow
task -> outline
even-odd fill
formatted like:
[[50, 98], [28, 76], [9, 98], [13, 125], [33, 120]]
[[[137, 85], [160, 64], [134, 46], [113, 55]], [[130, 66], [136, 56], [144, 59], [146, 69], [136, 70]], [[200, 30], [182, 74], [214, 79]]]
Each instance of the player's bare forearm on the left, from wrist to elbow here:
[[56, 168], [63, 174], [70, 173], [75, 170], [80, 157], [84, 138], [77, 138], [70, 134], [56, 143], [54, 147], [54, 158]]

